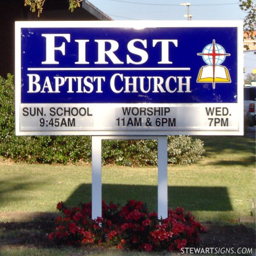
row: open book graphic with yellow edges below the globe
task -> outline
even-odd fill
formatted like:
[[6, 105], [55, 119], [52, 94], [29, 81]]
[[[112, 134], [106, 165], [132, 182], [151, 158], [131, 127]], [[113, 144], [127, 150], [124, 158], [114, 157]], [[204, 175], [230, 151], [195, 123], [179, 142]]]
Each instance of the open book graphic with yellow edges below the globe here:
[[[213, 71], [215, 70], [214, 74]], [[197, 82], [230, 82], [230, 75], [226, 67], [209, 65], [200, 69]]]

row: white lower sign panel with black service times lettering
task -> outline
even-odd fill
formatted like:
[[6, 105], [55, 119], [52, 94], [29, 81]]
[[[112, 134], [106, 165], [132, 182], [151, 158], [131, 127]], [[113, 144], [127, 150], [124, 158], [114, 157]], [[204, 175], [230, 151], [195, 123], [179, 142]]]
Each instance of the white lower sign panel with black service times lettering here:
[[21, 104], [20, 135], [209, 134], [239, 131], [237, 104]]

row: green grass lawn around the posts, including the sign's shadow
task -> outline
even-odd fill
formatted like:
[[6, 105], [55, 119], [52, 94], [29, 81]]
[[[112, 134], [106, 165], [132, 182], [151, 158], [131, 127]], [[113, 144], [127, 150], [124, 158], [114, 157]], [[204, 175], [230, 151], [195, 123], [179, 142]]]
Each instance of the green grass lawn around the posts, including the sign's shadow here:
[[[255, 198], [255, 140], [200, 137], [206, 154], [198, 164], [168, 167], [169, 208], [184, 207], [199, 221], [233, 222], [250, 216]], [[157, 168], [105, 166], [102, 198], [142, 200], [157, 211]], [[0, 212], [57, 212], [91, 201], [91, 167], [0, 162]]]

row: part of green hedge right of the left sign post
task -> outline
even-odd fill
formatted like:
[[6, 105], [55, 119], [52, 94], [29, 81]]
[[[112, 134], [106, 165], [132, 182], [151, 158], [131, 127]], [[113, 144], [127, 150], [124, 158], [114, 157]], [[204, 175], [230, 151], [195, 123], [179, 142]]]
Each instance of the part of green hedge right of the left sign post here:
[[[102, 163], [122, 166], [157, 166], [157, 140], [112, 140], [102, 143]], [[168, 163], [197, 163], [204, 143], [190, 136], [168, 136]]]

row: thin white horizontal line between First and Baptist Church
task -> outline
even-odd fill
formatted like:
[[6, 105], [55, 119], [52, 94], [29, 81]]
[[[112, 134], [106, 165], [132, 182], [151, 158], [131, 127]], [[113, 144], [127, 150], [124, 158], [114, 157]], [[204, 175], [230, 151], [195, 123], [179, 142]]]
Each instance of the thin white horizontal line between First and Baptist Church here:
[[28, 71], [190, 70], [190, 67], [29, 67]]

